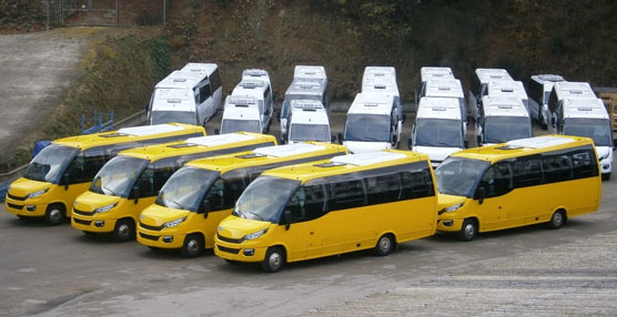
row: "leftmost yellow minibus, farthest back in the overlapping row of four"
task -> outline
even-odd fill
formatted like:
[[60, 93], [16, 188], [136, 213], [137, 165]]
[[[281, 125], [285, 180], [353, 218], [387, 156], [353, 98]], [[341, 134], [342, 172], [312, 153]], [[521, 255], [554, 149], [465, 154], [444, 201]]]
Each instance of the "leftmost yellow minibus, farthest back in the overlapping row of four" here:
[[97, 172], [118, 152], [203, 135], [201, 126], [169, 123], [58, 139], [11, 183], [4, 206], [18, 217], [61, 224], [71, 216], [75, 197], [88, 191]]

